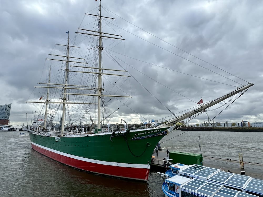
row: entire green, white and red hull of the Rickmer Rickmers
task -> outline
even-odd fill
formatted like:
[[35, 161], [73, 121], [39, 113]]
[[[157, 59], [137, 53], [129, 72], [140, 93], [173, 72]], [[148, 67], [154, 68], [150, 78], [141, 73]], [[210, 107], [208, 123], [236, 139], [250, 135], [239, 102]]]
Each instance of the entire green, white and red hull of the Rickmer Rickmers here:
[[114, 177], [148, 180], [156, 144], [168, 127], [81, 134], [43, 136], [29, 133], [32, 148], [58, 162], [81, 170]]

